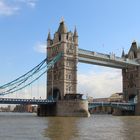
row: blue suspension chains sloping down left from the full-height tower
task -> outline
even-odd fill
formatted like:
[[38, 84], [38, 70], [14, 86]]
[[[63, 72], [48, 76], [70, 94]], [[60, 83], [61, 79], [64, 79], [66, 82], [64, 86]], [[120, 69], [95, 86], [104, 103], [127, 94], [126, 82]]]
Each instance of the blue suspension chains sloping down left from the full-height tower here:
[[[46, 72], [54, 66], [54, 64], [60, 60], [63, 53], [58, 53], [48, 64], [46, 64], [46, 60], [44, 59], [39, 65], [34, 67], [32, 70], [27, 72], [26, 74], [20, 76], [19, 78], [0, 86], [0, 95], [11, 94], [16, 91], [22, 90], [23, 88], [28, 87], [35, 81], [37, 81], [40, 77], [42, 77]], [[41, 73], [41, 74], [40, 74]], [[39, 74], [39, 75], [37, 75]]]

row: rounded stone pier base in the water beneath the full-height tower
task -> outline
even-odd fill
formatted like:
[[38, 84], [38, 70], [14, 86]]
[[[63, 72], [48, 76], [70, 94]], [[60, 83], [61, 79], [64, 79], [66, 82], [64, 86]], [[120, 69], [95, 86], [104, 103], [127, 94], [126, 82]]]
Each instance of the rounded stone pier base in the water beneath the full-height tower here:
[[52, 105], [39, 105], [38, 116], [89, 117], [87, 100], [61, 100]]

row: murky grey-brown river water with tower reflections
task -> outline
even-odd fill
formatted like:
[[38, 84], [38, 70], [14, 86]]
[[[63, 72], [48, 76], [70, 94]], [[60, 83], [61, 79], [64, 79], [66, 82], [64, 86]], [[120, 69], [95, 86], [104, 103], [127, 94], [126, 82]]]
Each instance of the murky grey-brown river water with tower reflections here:
[[37, 117], [29, 113], [0, 113], [0, 140], [140, 140], [140, 117]]

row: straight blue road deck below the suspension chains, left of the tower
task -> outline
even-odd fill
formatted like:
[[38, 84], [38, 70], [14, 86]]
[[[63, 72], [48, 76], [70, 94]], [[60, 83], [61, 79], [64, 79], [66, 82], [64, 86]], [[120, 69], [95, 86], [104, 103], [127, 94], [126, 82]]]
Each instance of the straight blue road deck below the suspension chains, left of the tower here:
[[13, 99], [13, 98], [0, 98], [0, 104], [54, 104], [56, 101], [48, 99]]

